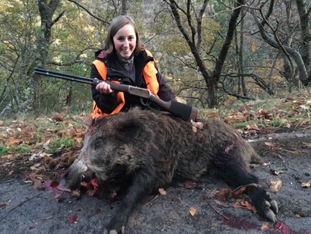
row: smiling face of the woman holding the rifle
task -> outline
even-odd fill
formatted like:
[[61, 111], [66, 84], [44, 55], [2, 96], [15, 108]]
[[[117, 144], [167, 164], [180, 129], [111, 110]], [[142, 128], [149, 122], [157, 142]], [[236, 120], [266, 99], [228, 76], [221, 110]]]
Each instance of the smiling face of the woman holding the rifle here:
[[132, 25], [124, 25], [113, 36], [113, 43], [118, 55], [122, 59], [131, 58], [136, 48], [136, 34]]

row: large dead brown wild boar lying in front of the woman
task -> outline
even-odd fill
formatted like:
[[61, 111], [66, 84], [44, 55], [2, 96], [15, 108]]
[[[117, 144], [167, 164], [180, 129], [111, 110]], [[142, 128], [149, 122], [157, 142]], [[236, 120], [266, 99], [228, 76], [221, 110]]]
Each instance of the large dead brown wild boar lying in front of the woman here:
[[208, 173], [231, 189], [244, 186], [258, 213], [275, 222], [276, 201], [260, 186], [247, 186], [258, 184], [249, 162], [262, 163], [262, 158], [224, 122], [196, 121], [204, 127], [195, 132], [190, 122], [138, 108], [98, 118], [59, 188], [77, 189], [92, 173], [99, 181], [126, 180], [120, 208], [105, 229], [117, 233], [124, 231], [133, 209], [152, 191], [174, 178], [197, 180]]

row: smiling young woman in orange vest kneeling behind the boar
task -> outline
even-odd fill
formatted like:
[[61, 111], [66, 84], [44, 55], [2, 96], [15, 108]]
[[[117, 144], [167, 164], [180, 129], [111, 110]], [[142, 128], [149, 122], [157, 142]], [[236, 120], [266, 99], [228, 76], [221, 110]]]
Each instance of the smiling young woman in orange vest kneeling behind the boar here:
[[[141, 43], [135, 22], [129, 16], [112, 20], [104, 48], [95, 53], [91, 78], [147, 88], [164, 101], [175, 101], [174, 93]], [[93, 119], [127, 111], [133, 106], [146, 108], [140, 97], [112, 90], [106, 82], [92, 86], [92, 95]]]

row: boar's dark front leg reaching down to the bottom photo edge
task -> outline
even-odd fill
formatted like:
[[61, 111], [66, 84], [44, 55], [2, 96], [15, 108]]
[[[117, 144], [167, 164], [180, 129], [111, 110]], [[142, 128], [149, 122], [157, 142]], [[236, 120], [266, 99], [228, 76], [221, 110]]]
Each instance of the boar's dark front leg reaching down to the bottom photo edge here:
[[148, 172], [136, 172], [133, 175], [131, 184], [127, 188], [126, 195], [122, 199], [115, 216], [106, 226], [104, 234], [117, 234], [120, 231], [124, 233], [124, 227], [127, 224], [129, 216], [137, 207], [142, 198], [149, 195], [153, 189], [154, 176]]

